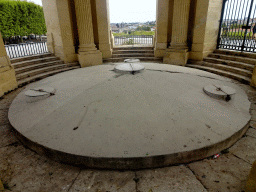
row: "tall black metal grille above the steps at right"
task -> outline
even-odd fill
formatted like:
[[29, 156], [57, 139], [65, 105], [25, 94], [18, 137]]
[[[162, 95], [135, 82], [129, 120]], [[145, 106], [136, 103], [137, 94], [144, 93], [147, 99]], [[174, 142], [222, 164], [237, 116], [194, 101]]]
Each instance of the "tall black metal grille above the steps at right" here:
[[217, 49], [256, 52], [256, 0], [224, 0]]

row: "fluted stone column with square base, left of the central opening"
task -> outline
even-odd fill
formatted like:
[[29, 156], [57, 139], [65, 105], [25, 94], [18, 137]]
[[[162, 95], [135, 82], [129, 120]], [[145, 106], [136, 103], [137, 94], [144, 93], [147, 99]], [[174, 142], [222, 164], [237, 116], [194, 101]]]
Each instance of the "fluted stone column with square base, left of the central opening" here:
[[102, 64], [102, 54], [96, 49], [93, 37], [90, 0], [75, 0], [79, 35], [78, 60], [81, 67]]

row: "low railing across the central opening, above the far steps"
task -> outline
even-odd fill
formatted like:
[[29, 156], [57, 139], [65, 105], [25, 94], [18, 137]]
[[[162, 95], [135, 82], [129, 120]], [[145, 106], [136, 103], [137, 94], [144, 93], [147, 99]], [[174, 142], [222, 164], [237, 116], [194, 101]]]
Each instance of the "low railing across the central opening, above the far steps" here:
[[153, 35], [123, 35], [115, 36], [116, 46], [120, 45], [153, 45]]

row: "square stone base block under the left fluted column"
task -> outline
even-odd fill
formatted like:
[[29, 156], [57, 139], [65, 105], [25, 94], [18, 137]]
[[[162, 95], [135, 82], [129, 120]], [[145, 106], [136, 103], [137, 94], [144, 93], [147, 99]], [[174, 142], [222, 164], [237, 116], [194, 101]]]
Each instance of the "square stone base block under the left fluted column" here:
[[80, 52], [78, 54], [78, 61], [81, 67], [100, 65], [102, 64], [102, 53], [100, 51]]

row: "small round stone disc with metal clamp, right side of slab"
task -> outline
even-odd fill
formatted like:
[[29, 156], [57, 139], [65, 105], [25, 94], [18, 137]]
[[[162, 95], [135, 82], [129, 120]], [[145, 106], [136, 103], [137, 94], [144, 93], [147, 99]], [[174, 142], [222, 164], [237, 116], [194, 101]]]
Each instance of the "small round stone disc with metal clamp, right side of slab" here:
[[207, 95], [227, 102], [233, 99], [236, 93], [235, 89], [224, 85], [207, 85], [203, 90]]

